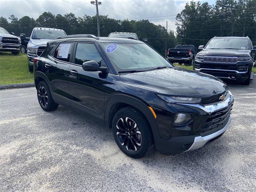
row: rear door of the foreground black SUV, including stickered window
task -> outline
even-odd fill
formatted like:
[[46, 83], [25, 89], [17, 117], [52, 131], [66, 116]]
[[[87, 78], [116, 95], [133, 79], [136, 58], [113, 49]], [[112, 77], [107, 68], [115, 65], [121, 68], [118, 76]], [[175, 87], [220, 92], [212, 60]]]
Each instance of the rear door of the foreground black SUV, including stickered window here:
[[56, 45], [56, 48], [48, 56], [48, 62], [43, 65], [43, 71], [52, 86], [54, 101], [65, 106], [70, 106], [68, 69], [72, 58], [73, 46], [73, 42]]

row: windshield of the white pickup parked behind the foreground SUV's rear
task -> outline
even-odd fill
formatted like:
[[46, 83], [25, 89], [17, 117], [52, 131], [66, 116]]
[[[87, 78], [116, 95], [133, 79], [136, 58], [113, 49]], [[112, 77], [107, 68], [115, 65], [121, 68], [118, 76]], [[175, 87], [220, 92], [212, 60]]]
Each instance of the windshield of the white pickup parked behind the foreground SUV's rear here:
[[64, 31], [34, 30], [32, 39], [57, 39], [58, 37], [65, 35]]

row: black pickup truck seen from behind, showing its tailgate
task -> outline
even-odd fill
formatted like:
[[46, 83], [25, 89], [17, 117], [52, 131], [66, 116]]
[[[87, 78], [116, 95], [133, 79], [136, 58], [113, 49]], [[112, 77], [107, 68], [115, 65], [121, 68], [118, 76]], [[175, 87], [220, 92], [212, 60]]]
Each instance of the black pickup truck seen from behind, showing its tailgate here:
[[167, 59], [172, 63], [192, 65], [196, 53], [194, 45], [177, 45], [174, 49], [168, 49]]

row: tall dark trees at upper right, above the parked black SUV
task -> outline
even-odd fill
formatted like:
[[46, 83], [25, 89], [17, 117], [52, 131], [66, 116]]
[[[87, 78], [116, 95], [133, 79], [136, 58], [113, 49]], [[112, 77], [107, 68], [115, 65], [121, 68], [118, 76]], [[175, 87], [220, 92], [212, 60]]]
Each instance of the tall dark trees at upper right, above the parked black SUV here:
[[[191, 1], [176, 16], [182, 44], [205, 45], [214, 36], [248, 36], [256, 45], [256, 0]], [[195, 40], [194, 40], [195, 39]]]

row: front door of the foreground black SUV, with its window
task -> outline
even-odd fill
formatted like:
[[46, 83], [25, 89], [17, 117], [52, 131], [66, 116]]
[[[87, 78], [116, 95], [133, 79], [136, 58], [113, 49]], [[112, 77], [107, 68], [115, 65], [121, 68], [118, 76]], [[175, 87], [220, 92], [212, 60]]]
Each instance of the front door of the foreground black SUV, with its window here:
[[93, 42], [77, 42], [69, 68], [71, 106], [97, 118], [104, 118], [107, 74], [100, 71], [84, 71], [83, 62], [91, 60], [98, 62], [100, 66], [106, 66]]

